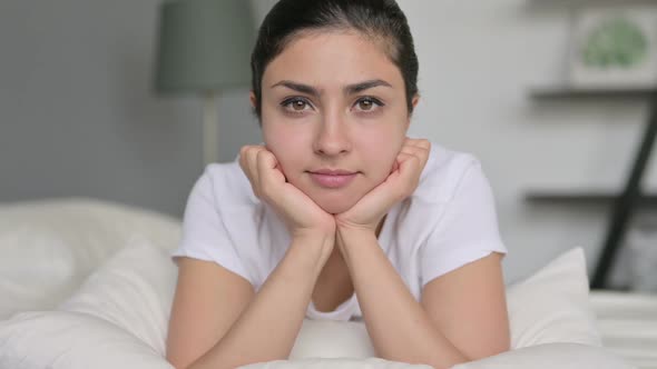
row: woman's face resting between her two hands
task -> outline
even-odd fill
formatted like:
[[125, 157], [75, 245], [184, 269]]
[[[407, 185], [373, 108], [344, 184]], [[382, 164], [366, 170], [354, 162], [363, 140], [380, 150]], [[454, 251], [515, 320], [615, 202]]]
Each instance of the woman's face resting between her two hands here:
[[388, 178], [409, 118], [400, 70], [356, 32], [304, 33], [263, 76], [265, 144], [287, 181], [330, 213]]

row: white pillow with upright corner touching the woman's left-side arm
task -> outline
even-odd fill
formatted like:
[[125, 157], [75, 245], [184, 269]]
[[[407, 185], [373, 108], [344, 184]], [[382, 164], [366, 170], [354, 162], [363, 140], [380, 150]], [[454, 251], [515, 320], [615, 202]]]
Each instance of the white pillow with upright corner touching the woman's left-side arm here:
[[136, 236], [58, 309], [105, 319], [165, 356], [178, 275], [169, 253]]

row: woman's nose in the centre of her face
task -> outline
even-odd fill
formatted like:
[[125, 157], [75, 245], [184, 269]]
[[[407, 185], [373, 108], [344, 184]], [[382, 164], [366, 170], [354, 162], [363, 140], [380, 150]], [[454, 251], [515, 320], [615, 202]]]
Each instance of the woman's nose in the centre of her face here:
[[340, 156], [351, 151], [349, 127], [340, 113], [329, 112], [322, 118], [313, 149], [324, 156]]

